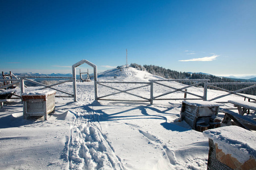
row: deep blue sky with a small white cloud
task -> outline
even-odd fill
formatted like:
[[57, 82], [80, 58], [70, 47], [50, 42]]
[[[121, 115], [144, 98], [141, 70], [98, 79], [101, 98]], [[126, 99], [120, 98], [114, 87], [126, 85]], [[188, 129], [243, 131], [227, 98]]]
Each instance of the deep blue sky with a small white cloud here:
[[256, 75], [255, 9], [255, 0], [0, 0], [0, 71], [71, 73], [87, 59], [101, 72], [125, 65], [127, 49], [129, 64]]

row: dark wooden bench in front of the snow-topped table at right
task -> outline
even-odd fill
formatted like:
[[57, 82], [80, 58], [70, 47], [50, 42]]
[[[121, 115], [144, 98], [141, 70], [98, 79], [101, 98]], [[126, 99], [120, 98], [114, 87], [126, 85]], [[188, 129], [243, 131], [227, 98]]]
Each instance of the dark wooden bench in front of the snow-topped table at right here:
[[250, 130], [247, 128], [246, 124], [251, 124], [253, 126], [256, 126], [256, 122], [254, 120], [251, 120], [250, 118], [247, 118], [245, 116], [242, 116], [241, 114], [237, 114], [235, 112], [229, 111], [228, 109], [222, 109], [220, 108], [220, 112], [225, 113], [225, 116], [222, 120], [223, 124], [228, 124], [231, 120], [233, 120], [237, 126], [240, 126], [241, 128]]

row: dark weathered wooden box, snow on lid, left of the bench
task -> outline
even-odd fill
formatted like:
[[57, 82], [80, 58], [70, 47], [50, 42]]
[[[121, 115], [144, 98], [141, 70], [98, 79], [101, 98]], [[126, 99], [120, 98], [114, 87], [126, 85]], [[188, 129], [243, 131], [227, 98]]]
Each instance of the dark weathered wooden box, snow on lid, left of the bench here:
[[182, 101], [181, 121], [185, 120], [192, 129], [197, 131], [215, 128], [220, 126], [221, 120], [216, 116], [221, 105], [212, 101]]

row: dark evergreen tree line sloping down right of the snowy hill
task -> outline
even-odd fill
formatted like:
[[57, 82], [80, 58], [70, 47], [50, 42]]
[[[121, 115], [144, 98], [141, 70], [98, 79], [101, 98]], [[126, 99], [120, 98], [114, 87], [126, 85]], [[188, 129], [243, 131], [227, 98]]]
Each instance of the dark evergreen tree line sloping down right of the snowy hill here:
[[[134, 67], [138, 70], [146, 70], [148, 73], [162, 76], [166, 79], [209, 79], [209, 83], [217, 83], [217, 82], [252, 82], [251, 80], [236, 80], [231, 78], [225, 78], [210, 74], [202, 74], [202, 73], [188, 73], [188, 72], [179, 72], [175, 70], [165, 69], [163, 67], [155, 66], [155, 65], [138, 65], [137, 63], [131, 63], [131, 67]], [[184, 84], [192, 84], [192, 82], [184, 82]], [[201, 84], [200, 86], [204, 86], [204, 84]], [[218, 85], [217, 87], [224, 88], [229, 91], [236, 91], [240, 90], [245, 87], [249, 87], [252, 85], [245, 85], [245, 84], [239, 84], [239, 85]], [[209, 88], [209, 87], [208, 87]], [[243, 94], [249, 94], [249, 95], [256, 95], [256, 88], [250, 88], [249, 90], [242, 91]]]

